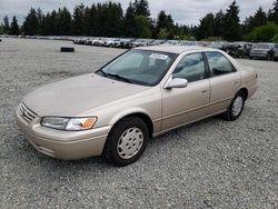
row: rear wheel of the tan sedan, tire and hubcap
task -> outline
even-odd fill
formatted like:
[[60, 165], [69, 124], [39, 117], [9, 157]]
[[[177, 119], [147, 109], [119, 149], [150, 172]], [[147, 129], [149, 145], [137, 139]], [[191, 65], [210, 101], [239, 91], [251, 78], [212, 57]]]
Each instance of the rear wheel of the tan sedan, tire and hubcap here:
[[222, 118], [228, 121], [237, 120], [245, 108], [245, 101], [246, 94], [244, 93], [244, 91], [238, 91], [232, 99], [228, 110], [222, 115]]

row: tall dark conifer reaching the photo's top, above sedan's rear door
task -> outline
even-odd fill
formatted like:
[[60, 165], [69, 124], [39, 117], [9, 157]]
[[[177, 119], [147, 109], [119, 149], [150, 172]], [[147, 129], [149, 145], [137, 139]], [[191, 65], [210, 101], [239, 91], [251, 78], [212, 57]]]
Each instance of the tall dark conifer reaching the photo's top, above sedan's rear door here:
[[239, 7], [236, 1], [232, 1], [227, 10], [224, 19], [225, 32], [224, 38], [228, 41], [240, 40], [240, 24], [239, 24]]

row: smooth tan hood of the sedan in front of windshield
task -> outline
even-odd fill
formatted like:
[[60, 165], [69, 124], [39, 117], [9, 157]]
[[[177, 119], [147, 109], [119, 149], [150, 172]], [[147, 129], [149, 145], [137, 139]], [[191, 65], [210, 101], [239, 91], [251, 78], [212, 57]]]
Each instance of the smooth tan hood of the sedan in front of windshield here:
[[47, 84], [27, 94], [22, 101], [40, 117], [75, 117], [148, 89], [150, 87], [111, 80], [93, 73]]

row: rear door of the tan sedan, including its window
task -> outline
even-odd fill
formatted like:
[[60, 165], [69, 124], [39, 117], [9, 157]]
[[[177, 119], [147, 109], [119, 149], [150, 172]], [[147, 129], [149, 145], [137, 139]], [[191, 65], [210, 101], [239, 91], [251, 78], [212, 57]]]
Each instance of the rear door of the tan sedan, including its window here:
[[240, 73], [220, 52], [206, 52], [210, 73], [209, 115], [227, 110], [240, 87]]

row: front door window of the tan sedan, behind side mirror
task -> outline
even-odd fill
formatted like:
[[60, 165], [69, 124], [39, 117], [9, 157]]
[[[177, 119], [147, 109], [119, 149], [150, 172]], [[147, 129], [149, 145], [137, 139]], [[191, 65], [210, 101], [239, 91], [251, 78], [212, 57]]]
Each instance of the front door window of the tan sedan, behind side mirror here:
[[183, 78], [193, 82], [205, 78], [205, 63], [201, 53], [191, 53], [180, 60], [172, 78]]

